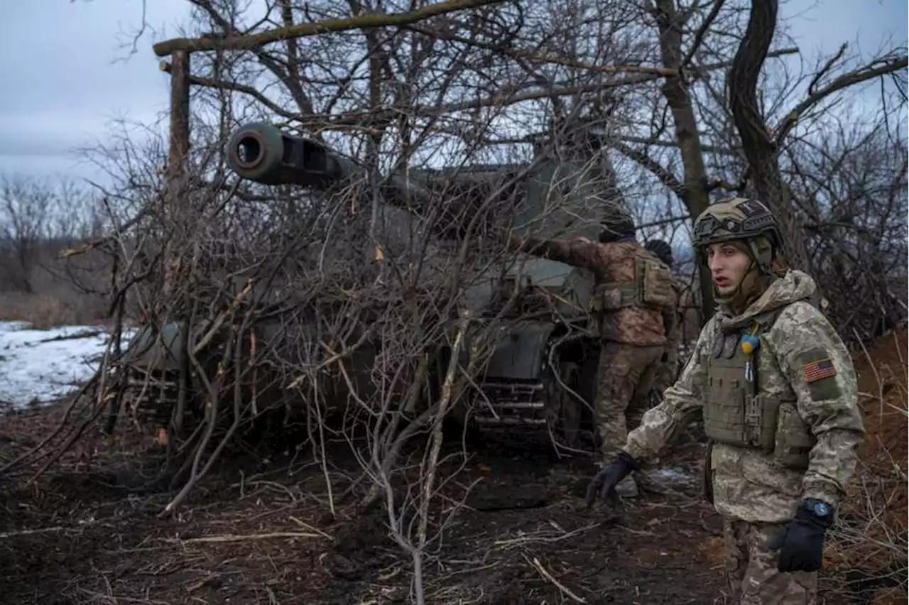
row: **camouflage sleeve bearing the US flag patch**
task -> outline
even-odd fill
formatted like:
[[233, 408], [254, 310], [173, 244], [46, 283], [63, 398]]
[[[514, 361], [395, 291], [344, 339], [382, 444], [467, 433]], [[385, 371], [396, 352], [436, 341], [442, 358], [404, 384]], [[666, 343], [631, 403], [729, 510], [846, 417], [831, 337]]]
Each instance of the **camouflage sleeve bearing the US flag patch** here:
[[795, 302], [781, 313], [770, 337], [799, 415], [817, 439], [802, 481], [803, 496], [836, 507], [865, 437], [852, 358], [827, 318], [807, 302]]

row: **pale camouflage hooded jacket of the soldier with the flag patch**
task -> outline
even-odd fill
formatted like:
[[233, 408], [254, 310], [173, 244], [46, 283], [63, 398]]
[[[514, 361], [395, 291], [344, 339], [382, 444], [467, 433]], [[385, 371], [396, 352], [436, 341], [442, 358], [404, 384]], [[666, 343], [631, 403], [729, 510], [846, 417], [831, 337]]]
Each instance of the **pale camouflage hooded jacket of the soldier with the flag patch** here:
[[[790, 271], [741, 315], [731, 316], [721, 308], [701, 331], [678, 381], [665, 391], [659, 406], [644, 414], [624, 450], [639, 460], [656, 455], [686, 422], [685, 416], [703, 405], [705, 361], [717, 335], [747, 327], [755, 315], [776, 310], [776, 321], [761, 335], [755, 352], [762, 376], [758, 383], [762, 390], [793, 392], [795, 408], [817, 442], [807, 471], [776, 464], [773, 452], [715, 444], [706, 462], [714, 507], [723, 515], [751, 522], [789, 521], [804, 498], [836, 507], [854, 473], [865, 432], [853, 362], [833, 326], [806, 302], [814, 291], [810, 276]], [[835, 374], [809, 384], [799, 358], [817, 349], [832, 360]]]

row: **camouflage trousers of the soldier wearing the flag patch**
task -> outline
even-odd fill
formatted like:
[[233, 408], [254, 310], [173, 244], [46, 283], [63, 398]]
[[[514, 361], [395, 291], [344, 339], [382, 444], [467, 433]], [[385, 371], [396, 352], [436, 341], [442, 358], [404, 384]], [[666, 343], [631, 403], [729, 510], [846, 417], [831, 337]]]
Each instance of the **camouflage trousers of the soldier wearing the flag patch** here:
[[776, 570], [779, 552], [765, 544], [783, 527], [723, 520], [725, 575], [736, 605], [815, 605], [817, 574]]

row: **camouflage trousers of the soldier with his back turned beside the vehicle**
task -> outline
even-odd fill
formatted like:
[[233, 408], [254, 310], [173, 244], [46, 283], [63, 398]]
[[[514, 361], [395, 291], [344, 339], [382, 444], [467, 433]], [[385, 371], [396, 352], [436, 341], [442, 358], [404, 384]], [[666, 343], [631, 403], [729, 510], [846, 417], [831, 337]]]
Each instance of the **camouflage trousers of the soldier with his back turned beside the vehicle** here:
[[594, 413], [605, 461], [618, 455], [628, 431], [641, 424], [662, 356], [662, 346], [603, 343]]

